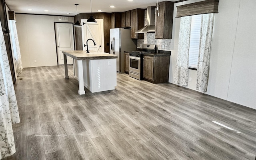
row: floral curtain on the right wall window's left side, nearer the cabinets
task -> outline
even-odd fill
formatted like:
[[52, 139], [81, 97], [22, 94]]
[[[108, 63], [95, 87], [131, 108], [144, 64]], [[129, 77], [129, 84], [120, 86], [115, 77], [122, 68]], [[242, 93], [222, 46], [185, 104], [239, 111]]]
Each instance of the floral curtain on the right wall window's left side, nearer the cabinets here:
[[188, 85], [188, 53], [190, 44], [191, 16], [180, 18], [180, 34], [174, 83]]

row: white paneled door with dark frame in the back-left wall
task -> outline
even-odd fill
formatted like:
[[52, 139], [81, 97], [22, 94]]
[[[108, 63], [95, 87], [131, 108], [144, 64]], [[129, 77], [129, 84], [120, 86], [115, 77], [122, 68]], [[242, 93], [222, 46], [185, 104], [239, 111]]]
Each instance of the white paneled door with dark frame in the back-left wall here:
[[[56, 47], [58, 64], [64, 64], [62, 50], [74, 50], [74, 34], [72, 23], [55, 23]], [[68, 64], [73, 64], [73, 58], [67, 56]]]

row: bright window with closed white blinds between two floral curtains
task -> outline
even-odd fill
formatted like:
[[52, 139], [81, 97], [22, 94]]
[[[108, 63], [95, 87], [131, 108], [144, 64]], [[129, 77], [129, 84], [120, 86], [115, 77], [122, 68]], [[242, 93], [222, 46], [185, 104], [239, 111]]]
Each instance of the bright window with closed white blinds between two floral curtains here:
[[191, 16], [188, 67], [197, 68], [202, 14]]

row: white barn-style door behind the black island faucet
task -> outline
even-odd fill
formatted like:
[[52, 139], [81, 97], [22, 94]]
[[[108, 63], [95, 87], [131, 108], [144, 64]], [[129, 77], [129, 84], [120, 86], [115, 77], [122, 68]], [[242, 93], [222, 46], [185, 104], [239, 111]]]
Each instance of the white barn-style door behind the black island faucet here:
[[96, 19], [97, 23], [87, 23], [86, 20], [81, 20], [82, 25], [82, 41], [83, 50], [86, 50], [86, 41], [91, 38], [94, 40], [96, 46], [94, 46], [92, 40], [88, 41], [88, 50], [104, 52], [104, 30], [103, 19]]

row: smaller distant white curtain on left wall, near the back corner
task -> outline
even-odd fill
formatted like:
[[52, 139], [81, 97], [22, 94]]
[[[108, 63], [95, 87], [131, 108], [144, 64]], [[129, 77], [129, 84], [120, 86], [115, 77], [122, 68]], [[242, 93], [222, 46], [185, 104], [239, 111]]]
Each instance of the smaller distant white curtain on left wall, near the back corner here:
[[16, 58], [17, 73], [21, 74], [23, 67], [22, 67], [22, 62], [21, 62], [20, 44], [19, 44], [19, 40], [18, 40], [18, 33], [17, 33], [15, 20], [10, 20], [10, 28], [11, 28], [11, 34], [12, 34], [12, 44], [13, 44], [14, 56]]

